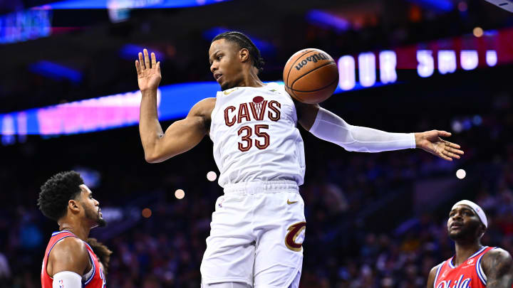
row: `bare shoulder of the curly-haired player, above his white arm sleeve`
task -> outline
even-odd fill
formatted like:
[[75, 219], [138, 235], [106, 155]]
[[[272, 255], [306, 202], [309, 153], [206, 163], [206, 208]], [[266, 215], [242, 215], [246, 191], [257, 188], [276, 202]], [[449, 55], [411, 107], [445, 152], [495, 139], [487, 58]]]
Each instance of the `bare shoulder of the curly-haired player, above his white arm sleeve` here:
[[82, 275], [90, 265], [88, 250], [82, 240], [74, 237], [57, 242], [48, 255], [48, 274], [62, 271], [76, 272]]

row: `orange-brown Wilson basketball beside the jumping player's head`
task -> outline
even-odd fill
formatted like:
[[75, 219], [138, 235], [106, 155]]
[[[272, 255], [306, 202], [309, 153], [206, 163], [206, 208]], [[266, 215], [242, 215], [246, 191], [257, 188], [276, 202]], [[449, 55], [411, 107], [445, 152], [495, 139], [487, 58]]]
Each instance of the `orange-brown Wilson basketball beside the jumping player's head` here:
[[323, 50], [307, 48], [289, 58], [284, 68], [285, 90], [299, 102], [316, 104], [328, 99], [338, 85], [338, 68]]

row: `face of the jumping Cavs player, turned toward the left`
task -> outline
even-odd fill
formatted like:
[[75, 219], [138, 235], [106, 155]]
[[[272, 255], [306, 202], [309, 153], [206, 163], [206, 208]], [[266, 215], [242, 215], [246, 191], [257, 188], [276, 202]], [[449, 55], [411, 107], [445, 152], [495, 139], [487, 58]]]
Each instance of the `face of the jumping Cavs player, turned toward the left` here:
[[242, 70], [239, 46], [236, 43], [219, 39], [210, 45], [210, 71], [214, 79], [221, 85], [221, 90], [236, 87], [242, 81]]

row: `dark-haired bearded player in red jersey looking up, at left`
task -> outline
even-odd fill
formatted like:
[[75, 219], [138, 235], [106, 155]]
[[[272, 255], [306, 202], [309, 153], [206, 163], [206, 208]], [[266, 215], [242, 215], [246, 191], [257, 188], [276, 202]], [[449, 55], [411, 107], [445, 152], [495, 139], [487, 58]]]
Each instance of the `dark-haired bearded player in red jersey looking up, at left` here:
[[61, 172], [41, 186], [38, 207], [56, 220], [41, 269], [42, 288], [103, 288], [105, 275], [87, 244], [89, 231], [105, 226], [100, 203], [75, 171]]

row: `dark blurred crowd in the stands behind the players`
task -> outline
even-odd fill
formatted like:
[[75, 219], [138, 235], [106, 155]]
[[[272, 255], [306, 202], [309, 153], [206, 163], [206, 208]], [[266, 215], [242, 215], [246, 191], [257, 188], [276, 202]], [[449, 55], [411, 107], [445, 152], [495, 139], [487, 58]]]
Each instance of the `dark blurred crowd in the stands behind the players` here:
[[[430, 268], [452, 255], [445, 225], [452, 203], [461, 198], [477, 201], [487, 212], [491, 224], [483, 244], [513, 251], [512, 100], [507, 93], [495, 94], [479, 125], [452, 137], [466, 152], [455, 162], [423, 151], [346, 153], [304, 133], [308, 168], [301, 195], [308, 225], [301, 287], [424, 287]], [[415, 129], [423, 125], [417, 122]], [[77, 163], [97, 171], [86, 182], [94, 182], [103, 210], [135, 207], [139, 213], [125, 228], [113, 219], [107, 228], [92, 230], [113, 251], [108, 287], [199, 287], [211, 213], [222, 195], [217, 183], [205, 178], [204, 169], [215, 170], [208, 142], [160, 166], [143, 161], [136, 127], [29, 137], [25, 144], [4, 147], [0, 180], [9, 193], [0, 196], [0, 287], [39, 286], [44, 247], [57, 226], [36, 210], [38, 186]], [[66, 150], [69, 146], [73, 149]], [[41, 163], [25, 165], [35, 155]], [[417, 181], [457, 181], [460, 166], [469, 174], [465, 191], [433, 210], [415, 210]], [[476, 175], [483, 167], [491, 176]], [[185, 189], [185, 198], [175, 198], [176, 188]], [[140, 216], [142, 208], [150, 208], [148, 218]]]

